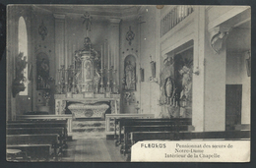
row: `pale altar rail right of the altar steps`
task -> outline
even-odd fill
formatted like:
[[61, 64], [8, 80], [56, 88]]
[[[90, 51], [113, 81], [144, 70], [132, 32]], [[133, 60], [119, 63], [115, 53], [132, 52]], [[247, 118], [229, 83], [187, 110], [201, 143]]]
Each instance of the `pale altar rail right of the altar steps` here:
[[155, 118], [155, 114], [105, 114], [105, 132], [110, 131], [110, 119], [120, 118]]

